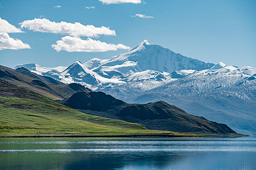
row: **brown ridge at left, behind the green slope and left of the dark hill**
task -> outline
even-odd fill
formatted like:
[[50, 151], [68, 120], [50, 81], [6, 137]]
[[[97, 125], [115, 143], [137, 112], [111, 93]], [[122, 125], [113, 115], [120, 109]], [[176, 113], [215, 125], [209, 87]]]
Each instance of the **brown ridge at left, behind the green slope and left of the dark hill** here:
[[0, 79], [24, 87], [53, 100], [63, 100], [78, 91], [90, 91], [78, 84], [65, 85], [50, 77], [30, 72], [26, 68], [16, 70], [0, 66]]

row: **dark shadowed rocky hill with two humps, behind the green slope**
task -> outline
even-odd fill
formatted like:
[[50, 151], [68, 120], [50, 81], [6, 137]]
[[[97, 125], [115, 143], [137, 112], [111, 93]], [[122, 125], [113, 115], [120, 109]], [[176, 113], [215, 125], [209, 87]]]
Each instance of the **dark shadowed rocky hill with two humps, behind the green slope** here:
[[235, 134], [225, 124], [187, 114], [180, 108], [161, 101], [128, 104], [103, 92], [78, 92], [61, 103], [86, 114], [140, 123], [152, 130], [217, 136]]

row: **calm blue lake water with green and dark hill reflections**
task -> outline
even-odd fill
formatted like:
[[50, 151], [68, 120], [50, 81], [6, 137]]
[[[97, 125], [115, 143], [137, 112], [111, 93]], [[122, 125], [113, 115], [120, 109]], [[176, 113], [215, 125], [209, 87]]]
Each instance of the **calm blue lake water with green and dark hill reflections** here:
[[256, 138], [0, 138], [0, 170], [256, 170]]

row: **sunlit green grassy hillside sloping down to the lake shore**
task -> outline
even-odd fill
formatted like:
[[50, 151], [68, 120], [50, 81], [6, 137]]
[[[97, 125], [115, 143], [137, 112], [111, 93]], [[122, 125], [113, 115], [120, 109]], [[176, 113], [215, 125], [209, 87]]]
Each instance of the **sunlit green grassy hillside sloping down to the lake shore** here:
[[141, 124], [87, 115], [0, 80], [0, 135], [12, 133], [122, 135], [171, 132], [147, 130]]

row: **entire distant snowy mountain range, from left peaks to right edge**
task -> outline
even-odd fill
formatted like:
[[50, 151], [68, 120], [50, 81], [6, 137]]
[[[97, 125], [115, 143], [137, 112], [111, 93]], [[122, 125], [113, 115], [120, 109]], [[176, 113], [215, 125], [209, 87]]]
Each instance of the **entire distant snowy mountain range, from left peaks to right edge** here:
[[125, 102], [165, 101], [256, 135], [256, 68], [205, 63], [144, 40], [110, 59], [69, 67], [18, 65], [64, 84], [79, 83]]

